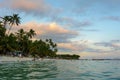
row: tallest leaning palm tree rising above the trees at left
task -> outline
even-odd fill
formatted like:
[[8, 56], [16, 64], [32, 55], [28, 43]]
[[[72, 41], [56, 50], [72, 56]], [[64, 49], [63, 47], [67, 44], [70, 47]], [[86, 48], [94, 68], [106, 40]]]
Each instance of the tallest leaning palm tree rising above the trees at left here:
[[13, 14], [12, 16], [10, 16], [9, 24], [10, 24], [10, 28], [9, 28], [8, 34], [10, 33], [10, 30], [13, 25], [18, 26], [20, 24], [20, 17], [18, 16], [18, 14]]

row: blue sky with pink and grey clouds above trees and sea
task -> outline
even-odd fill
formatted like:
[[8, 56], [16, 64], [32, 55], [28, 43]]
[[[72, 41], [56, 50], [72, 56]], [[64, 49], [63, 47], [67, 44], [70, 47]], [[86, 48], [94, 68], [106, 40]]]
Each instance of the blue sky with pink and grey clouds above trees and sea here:
[[33, 40], [51, 38], [58, 54], [120, 58], [120, 0], [0, 0], [0, 16], [19, 14]]

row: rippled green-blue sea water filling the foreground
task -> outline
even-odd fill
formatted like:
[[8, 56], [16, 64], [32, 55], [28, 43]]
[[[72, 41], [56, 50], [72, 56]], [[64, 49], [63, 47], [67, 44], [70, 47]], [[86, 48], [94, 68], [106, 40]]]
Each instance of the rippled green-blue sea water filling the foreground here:
[[120, 80], [120, 61], [1, 62], [0, 80]]

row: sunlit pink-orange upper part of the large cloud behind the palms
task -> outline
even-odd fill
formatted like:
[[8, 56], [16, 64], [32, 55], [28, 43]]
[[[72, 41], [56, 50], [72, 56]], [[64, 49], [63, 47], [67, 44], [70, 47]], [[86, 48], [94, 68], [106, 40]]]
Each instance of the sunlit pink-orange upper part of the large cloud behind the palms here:
[[44, 33], [60, 33], [60, 34], [78, 34], [76, 31], [67, 30], [63, 28], [61, 25], [57, 23], [36, 23], [36, 22], [28, 22], [21, 25], [22, 28], [29, 30], [34, 29], [38, 35]]

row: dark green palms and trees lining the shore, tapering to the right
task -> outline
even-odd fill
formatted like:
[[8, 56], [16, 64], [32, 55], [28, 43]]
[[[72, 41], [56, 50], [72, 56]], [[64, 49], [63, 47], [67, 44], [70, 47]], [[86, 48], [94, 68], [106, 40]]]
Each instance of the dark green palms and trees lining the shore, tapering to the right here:
[[[12, 16], [0, 17], [0, 55], [21, 55], [32, 56], [35, 58], [60, 58], [60, 59], [78, 59], [78, 55], [57, 55], [57, 44], [52, 39], [35, 40], [36, 35], [33, 29], [25, 31], [20, 29], [15, 33], [11, 32], [12, 27], [20, 24], [18, 14]], [[6, 27], [9, 27], [7, 29]]]

